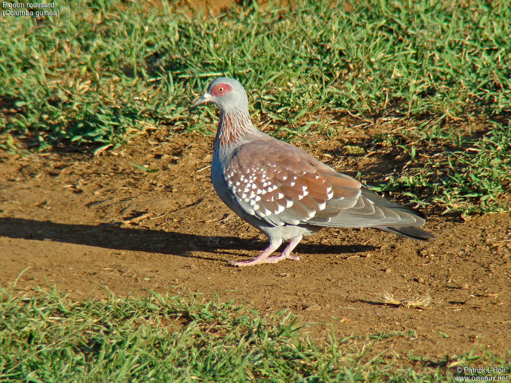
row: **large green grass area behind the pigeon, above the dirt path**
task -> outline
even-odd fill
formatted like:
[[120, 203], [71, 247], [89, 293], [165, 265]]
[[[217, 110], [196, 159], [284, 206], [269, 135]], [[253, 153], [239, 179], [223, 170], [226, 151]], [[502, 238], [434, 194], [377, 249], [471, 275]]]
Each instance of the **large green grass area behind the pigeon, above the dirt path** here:
[[[213, 109], [188, 107], [228, 75], [249, 90], [253, 118], [288, 138], [326, 129], [331, 116], [416, 122], [366, 142], [426, 154], [378, 188], [443, 211], [509, 209], [509, 1], [295, 3], [189, 18], [167, 2], [83, 0], [59, 3], [58, 18], [9, 16], [0, 146], [15, 149], [20, 137], [38, 150], [99, 153], [146, 128], [210, 133]], [[471, 121], [477, 134], [462, 126]]]

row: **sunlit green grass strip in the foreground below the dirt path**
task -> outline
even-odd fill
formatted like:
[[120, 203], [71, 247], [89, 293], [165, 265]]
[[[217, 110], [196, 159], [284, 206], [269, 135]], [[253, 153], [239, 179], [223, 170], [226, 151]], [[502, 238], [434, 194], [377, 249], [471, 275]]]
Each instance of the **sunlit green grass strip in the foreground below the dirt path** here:
[[0, 289], [0, 382], [440, 382], [459, 366], [511, 367], [490, 355], [431, 364], [375, 351], [407, 334], [318, 345], [296, 318], [265, 320], [232, 302], [105, 294], [75, 301], [52, 289]]

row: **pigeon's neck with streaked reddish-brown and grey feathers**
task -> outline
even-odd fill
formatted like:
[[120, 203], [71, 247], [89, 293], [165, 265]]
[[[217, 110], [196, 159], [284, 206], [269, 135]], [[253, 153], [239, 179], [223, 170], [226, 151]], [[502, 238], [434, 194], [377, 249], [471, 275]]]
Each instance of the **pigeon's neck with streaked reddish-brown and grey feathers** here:
[[247, 132], [255, 131], [248, 111], [246, 112], [220, 112], [215, 146], [220, 151], [228, 152], [234, 149]]

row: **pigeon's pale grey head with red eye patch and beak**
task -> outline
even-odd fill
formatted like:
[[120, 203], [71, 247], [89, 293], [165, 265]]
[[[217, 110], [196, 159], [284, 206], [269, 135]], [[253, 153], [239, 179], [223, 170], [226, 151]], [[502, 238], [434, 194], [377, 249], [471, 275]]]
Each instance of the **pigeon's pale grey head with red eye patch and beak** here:
[[193, 107], [208, 102], [215, 104], [222, 112], [248, 114], [245, 89], [234, 79], [219, 77], [213, 80], [206, 92], [193, 103]]

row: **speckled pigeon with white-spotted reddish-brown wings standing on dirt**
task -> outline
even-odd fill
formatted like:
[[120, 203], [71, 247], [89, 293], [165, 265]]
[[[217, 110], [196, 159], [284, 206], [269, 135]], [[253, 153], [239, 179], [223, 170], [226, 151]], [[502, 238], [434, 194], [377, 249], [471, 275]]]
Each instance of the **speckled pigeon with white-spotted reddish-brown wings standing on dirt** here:
[[[418, 227], [426, 223], [420, 211], [380, 197], [304, 150], [256, 129], [238, 81], [215, 79], [193, 107], [207, 102], [220, 109], [213, 186], [231, 210], [270, 242], [255, 258], [230, 265], [297, 260], [291, 252], [301, 238], [322, 227], [373, 227], [414, 240], [434, 238]], [[287, 240], [284, 251], [271, 256]]]

